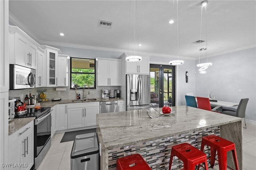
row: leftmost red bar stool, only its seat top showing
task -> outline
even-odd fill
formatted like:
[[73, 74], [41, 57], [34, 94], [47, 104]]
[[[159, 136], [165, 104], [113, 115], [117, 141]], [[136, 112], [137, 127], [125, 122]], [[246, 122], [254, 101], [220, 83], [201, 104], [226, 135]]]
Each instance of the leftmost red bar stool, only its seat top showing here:
[[116, 160], [116, 170], [151, 170], [151, 168], [140, 154], [133, 154]]

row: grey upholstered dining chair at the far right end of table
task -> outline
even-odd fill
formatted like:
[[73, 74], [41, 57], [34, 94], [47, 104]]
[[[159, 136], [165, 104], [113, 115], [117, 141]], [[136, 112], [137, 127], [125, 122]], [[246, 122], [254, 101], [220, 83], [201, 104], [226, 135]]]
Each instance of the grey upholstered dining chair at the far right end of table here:
[[244, 125], [245, 125], [245, 129], [246, 129], [246, 123], [245, 123], [245, 111], [246, 111], [246, 106], [248, 103], [248, 98], [245, 99], [241, 99], [238, 107], [235, 111], [232, 110], [226, 110], [226, 111], [222, 111], [220, 113], [225, 114], [225, 115], [231, 115], [231, 116], [236, 116], [236, 117], [240, 117], [244, 119]]

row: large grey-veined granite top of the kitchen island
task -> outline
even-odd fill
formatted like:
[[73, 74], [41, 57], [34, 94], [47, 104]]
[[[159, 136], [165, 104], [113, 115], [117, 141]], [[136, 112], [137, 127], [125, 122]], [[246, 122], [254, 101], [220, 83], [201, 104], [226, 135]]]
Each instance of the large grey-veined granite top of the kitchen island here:
[[[134, 145], [164, 137], [241, 121], [241, 118], [188, 106], [171, 107], [169, 116], [150, 118], [146, 110], [97, 114], [106, 149]], [[161, 111], [161, 108], [156, 108]], [[106, 121], [108, 120], [108, 121]]]

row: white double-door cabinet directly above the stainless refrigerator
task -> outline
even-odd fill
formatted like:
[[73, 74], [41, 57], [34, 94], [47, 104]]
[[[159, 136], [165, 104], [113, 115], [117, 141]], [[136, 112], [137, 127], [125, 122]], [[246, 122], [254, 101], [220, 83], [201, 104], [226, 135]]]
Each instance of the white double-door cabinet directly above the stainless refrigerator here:
[[142, 60], [138, 62], [126, 61], [126, 74], [149, 74], [149, 68], [148, 57], [142, 57]]

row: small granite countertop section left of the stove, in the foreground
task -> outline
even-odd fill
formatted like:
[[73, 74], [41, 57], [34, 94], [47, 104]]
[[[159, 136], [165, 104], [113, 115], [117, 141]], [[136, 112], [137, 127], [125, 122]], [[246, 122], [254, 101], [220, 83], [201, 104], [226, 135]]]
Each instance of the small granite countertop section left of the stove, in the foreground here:
[[25, 117], [19, 119], [13, 119], [9, 122], [9, 135], [12, 135], [14, 132], [18, 131], [31, 121], [34, 121], [35, 117]]

